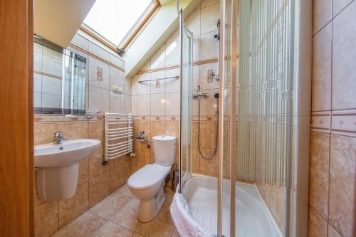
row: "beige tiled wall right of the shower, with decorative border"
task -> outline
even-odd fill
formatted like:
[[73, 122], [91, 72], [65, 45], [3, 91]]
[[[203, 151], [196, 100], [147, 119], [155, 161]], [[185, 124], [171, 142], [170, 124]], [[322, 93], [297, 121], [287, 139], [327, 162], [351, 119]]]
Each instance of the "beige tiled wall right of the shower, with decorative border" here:
[[314, 1], [309, 236], [353, 236], [356, 1]]

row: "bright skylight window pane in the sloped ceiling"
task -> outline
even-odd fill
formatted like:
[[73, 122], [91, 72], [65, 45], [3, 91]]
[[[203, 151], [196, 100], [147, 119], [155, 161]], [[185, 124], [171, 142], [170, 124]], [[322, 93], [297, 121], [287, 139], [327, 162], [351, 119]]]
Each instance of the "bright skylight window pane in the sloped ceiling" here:
[[96, 0], [84, 25], [119, 46], [142, 26], [142, 21], [156, 7], [154, 0]]

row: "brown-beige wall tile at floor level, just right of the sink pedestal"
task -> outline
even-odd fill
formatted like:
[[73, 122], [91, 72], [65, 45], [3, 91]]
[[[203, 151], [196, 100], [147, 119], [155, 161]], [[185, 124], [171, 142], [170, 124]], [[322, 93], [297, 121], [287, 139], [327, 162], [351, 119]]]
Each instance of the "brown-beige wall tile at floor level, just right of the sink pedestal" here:
[[59, 228], [63, 228], [70, 221], [89, 209], [88, 182], [77, 187], [75, 195], [59, 203]]

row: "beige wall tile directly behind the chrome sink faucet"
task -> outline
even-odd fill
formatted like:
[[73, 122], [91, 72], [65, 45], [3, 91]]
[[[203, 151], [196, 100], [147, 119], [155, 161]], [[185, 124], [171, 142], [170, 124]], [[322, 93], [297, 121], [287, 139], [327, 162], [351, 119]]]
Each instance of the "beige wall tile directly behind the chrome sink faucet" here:
[[46, 144], [53, 142], [53, 133], [58, 131], [58, 123], [35, 123], [34, 144]]

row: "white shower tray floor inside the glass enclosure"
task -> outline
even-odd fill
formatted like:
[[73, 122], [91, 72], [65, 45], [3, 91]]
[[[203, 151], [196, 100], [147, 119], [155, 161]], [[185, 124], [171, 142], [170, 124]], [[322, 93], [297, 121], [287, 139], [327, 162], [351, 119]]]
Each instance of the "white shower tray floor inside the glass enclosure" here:
[[[223, 235], [229, 234], [230, 195], [229, 182], [223, 185]], [[198, 174], [187, 181], [182, 195], [186, 199], [194, 220], [216, 233], [217, 179]], [[236, 182], [235, 226], [236, 237], [282, 237], [256, 186]]]

